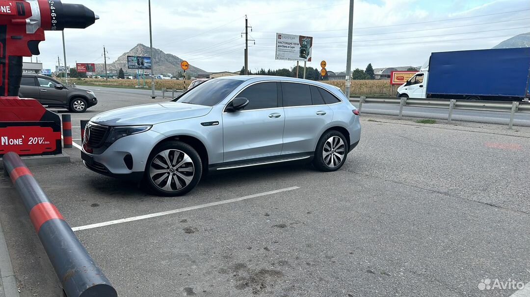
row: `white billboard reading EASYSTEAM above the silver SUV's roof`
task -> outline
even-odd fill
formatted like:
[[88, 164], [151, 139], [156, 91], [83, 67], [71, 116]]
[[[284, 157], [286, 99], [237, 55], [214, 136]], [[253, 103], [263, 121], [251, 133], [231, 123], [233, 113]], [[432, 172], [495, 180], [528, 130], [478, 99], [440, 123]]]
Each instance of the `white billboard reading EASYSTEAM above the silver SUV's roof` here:
[[312, 37], [276, 33], [276, 60], [311, 62], [312, 53]]

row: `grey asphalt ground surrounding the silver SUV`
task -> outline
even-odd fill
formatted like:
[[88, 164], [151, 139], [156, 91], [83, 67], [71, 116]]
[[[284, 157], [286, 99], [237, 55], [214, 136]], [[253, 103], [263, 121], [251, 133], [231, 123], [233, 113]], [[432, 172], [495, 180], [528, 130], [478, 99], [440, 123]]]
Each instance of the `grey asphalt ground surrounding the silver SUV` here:
[[[94, 114], [152, 102], [94, 91]], [[147, 215], [76, 231], [120, 296], [508, 297], [515, 290], [478, 285], [530, 282], [530, 128], [361, 121], [361, 142], [337, 172], [287, 165], [210, 175], [178, 198], [93, 173], [76, 149], [66, 150], [70, 164], [31, 170], [72, 227]], [[0, 205], [21, 295], [58, 296], [7, 178]]]

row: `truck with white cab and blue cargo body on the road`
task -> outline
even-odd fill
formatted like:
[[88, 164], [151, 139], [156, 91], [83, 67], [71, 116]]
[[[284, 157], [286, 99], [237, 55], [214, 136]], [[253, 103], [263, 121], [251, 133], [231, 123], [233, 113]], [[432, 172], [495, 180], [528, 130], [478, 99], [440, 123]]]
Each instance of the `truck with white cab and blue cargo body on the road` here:
[[522, 101], [529, 88], [530, 48], [435, 52], [398, 97]]

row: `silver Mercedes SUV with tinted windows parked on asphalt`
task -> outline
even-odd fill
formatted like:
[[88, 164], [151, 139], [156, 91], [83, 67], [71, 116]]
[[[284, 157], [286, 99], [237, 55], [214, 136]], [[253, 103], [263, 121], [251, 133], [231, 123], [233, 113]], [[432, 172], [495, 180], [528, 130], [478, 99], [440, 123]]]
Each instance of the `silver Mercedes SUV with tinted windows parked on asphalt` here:
[[325, 83], [222, 77], [166, 103], [93, 117], [81, 156], [90, 170], [179, 196], [208, 171], [293, 161], [338, 170], [359, 143], [358, 115], [340, 89]]

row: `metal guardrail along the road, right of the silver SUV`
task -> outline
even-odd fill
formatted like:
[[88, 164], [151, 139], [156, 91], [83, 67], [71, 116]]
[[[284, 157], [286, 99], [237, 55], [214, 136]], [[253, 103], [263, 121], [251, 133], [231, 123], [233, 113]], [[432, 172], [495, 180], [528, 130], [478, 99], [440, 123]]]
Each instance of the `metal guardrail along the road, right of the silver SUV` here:
[[399, 105], [399, 118], [403, 117], [403, 107], [436, 107], [448, 108], [447, 121], [451, 123], [454, 109], [484, 110], [489, 112], [509, 112], [509, 128], [514, 125], [515, 113], [530, 113], [530, 103], [516, 101], [479, 101], [479, 100], [455, 100], [455, 99], [420, 99], [420, 98], [350, 98], [350, 102], [359, 103], [359, 112], [364, 103]]

